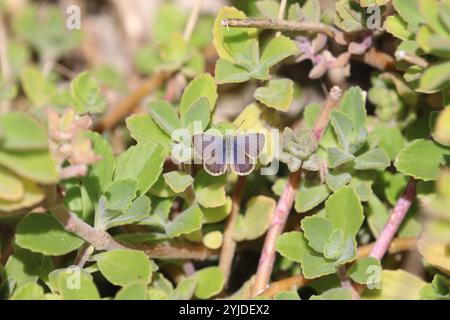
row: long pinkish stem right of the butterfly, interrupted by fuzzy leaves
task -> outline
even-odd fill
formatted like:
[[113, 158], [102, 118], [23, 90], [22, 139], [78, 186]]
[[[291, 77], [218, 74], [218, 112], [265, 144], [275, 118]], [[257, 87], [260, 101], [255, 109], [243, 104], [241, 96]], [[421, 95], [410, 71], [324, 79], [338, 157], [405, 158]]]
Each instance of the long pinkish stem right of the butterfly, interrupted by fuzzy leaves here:
[[[319, 145], [320, 138], [322, 137], [322, 134], [324, 133], [328, 125], [331, 111], [338, 106], [341, 94], [342, 92], [339, 87], [333, 87], [330, 90], [330, 94], [322, 107], [321, 113], [317, 117], [316, 123], [314, 124], [313, 128], [313, 134], [316, 139], [316, 146]], [[265, 290], [267, 284], [269, 283], [270, 275], [273, 269], [273, 263], [275, 261], [275, 241], [283, 231], [289, 212], [291, 211], [294, 204], [295, 194], [300, 183], [300, 177], [301, 170], [292, 172], [289, 175], [288, 183], [286, 184], [283, 194], [278, 200], [275, 212], [272, 215], [272, 221], [270, 222], [259, 259], [255, 283], [252, 287], [253, 297], [257, 296], [260, 292]]]

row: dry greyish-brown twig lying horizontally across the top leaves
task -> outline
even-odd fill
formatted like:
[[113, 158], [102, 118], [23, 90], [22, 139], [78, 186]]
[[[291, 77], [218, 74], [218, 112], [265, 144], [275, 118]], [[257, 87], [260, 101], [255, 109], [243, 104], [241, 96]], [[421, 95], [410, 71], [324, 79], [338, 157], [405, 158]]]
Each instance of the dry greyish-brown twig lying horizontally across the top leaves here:
[[313, 21], [288, 21], [273, 19], [223, 19], [223, 26], [237, 28], [261, 28], [278, 31], [309, 31], [322, 32], [327, 36], [333, 37], [335, 30], [323, 23]]

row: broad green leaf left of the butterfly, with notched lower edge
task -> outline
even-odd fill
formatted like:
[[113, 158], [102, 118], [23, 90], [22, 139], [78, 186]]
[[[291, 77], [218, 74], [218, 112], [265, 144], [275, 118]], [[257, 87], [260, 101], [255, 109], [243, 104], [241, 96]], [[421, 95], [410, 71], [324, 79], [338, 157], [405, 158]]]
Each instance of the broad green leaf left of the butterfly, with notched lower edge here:
[[137, 144], [117, 159], [114, 180], [134, 179], [140, 195], [145, 194], [158, 180], [164, 164], [162, 147], [153, 143]]

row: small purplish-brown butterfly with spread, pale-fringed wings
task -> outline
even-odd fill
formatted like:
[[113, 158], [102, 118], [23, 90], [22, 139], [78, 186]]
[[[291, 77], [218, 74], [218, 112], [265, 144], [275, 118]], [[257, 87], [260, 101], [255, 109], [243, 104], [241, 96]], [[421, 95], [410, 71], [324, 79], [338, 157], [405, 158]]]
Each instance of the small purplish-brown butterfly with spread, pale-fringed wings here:
[[193, 136], [194, 155], [202, 160], [203, 168], [212, 176], [220, 176], [229, 169], [241, 176], [250, 174], [264, 143], [262, 133]]

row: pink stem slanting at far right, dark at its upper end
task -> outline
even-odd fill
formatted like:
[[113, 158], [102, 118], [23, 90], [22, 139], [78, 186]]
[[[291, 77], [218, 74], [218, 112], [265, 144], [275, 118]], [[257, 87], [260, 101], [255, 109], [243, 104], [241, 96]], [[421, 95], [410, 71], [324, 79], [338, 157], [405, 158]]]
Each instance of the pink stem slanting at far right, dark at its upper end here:
[[406, 185], [406, 190], [398, 199], [392, 214], [390, 215], [388, 221], [383, 227], [375, 245], [372, 248], [369, 256], [381, 260], [386, 254], [389, 246], [391, 245], [392, 239], [397, 232], [400, 224], [403, 222], [406, 214], [416, 195], [416, 184], [417, 181], [410, 178], [408, 184]]

